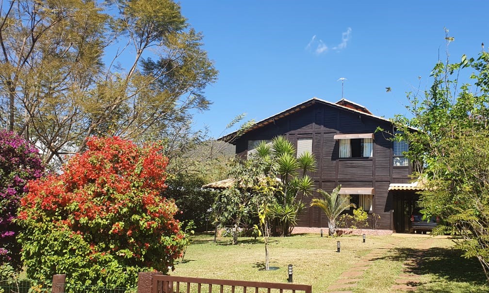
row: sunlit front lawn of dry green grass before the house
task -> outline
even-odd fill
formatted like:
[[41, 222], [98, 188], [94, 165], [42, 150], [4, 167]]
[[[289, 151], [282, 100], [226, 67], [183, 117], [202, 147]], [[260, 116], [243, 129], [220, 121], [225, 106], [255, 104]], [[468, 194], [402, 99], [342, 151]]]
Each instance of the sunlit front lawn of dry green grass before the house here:
[[[341, 252], [336, 252], [336, 241], [341, 241]], [[387, 248], [394, 240], [400, 244]], [[212, 234], [193, 236], [184, 261], [176, 265], [173, 275], [215, 279], [235, 279], [263, 282], [287, 282], [287, 266], [293, 265], [294, 283], [310, 284], [313, 292], [327, 292], [342, 272], [375, 248], [383, 251], [360, 277], [354, 292], [395, 292], [391, 290], [408, 255], [415, 253], [416, 244], [425, 238], [395, 236], [361, 236], [338, 238], [297, 234], [286, 238], [271, 238], [270, 266], [277, 271], [259, 271], [264, 267], [265, 245], [260, 240], [242, 237], [238, 245], [230, 238]], [[433, 245], [424, 252], [422, 261], [412, 272], [422, 275], [418, 292], [489, 292], [481, 267], [476, 260], [460, 257], [449, 239], [433, 238]]]

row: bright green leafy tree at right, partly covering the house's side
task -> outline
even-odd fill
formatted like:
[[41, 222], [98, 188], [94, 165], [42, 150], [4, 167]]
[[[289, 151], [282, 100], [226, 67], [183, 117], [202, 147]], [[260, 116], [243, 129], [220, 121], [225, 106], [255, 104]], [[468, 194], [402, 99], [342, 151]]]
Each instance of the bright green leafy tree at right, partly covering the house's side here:
[[424, 97], [408, 93], [413, 117], [396, 116], [394, 139], [408, 142], [405, 155], [417, 163], [422, 212], [441, 219], [433, 232], [461, 235], [458, 247], [479, 260], [489, 281], [489, 53], [458, 63], [447, 58], [431, 76]]

